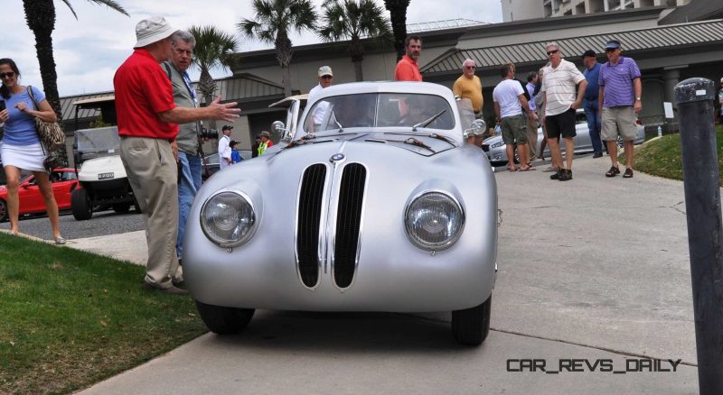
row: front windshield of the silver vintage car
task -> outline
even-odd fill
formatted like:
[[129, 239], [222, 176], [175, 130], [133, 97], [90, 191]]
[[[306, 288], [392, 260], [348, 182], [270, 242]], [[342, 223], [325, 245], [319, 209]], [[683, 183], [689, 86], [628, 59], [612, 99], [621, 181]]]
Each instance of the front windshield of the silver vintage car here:
[[367, 93], [326, 97], [314, 104], [304, 122], [305, 133], [354, 127], [450, 130], [455, 116], [442, 96]]

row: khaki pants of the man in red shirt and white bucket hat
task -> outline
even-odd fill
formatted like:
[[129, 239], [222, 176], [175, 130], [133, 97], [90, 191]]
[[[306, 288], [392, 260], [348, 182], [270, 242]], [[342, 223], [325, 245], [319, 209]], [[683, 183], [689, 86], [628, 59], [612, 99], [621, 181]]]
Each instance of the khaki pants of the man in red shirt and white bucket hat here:
[[178, 232], [178, 167], [171, 143], [121, 137], [120, 159], [146, 221], [146, 282], [158, 288], [181, 280], [175, 253]]

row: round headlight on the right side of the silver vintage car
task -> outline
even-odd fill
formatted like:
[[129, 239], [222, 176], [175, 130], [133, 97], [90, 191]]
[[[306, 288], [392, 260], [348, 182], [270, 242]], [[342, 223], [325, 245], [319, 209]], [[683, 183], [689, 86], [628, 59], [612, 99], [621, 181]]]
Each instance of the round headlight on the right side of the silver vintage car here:
[[462, 234], [465, 213], [454, 198], [427, 192], [407, 207], [404, 225], [412, 243], [424, 250], [440, 251], [449, 248]]

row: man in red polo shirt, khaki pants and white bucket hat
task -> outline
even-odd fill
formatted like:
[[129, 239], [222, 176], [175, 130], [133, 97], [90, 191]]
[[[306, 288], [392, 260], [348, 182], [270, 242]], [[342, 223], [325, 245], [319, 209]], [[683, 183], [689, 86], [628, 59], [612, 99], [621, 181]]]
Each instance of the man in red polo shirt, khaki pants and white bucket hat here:
[[120, 158], [146, 220], [145, 284], [172, 294], [185, 294], [175, 253], [178, 232], [178, 168], [175, 137], [178, 124], [202, 119], [233, 122], [241, 110], [236, 103], [176, 107], [171, 81], [159, 63], [171, 55], [175, 29], [154, 16], [136, 24], [133, 54], [113, 78], [120, 135]]

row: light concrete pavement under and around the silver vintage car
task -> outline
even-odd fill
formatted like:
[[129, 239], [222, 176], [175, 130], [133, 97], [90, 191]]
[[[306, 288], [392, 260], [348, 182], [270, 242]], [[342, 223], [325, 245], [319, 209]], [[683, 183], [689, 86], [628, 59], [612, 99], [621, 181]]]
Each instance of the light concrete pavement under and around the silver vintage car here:
[[[83, 393], [697, 393], [682, 183], [606, 179], [609, 167], [577, 158], [568, 182], [496, 173], [500, 271], [481, 347], [455, 344], [448, 313], [260, 310], [239, 335], [202, 335]], [[146, 260], [143, 232], [69, 245]], [[671, 372], [633, 372], [645, 358]], [[514, 372], [526, 359], [545, 372]], [[600, 371], [608, 360], [618, 373]]]

